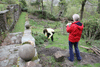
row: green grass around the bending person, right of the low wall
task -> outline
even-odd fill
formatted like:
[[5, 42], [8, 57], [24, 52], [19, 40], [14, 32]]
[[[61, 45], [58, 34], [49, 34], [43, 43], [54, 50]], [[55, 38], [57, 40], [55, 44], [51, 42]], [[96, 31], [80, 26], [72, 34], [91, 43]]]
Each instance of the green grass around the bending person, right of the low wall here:
[[[50, 48], [50, 47], [54, 46], [54, 47], [59, 47], [61, 49], [69, 49], [68, 35], [62, 34], [62, 29], [60, 28], [61, 22], [54, 22], [54, 23], [50, 23], [50, 22], [47, 23], [47, 22], [43, 22], [43, 21], [42, 22], [35, 22], [32, 19], [29, 19], [29, 21], [30, 21], [30, 24], [32, 25], [32, 31], [34, 33], [38, 32], [38, 33], [43, 34], [42, 32], [43, 32], [43, 29], [44, 29], [44, 25], [48, 25], [51, 28], [57, 27], [57, 29], [55, 29], [54, 42], [52, 42], [49, 39], [48, 40], [49, 45], [47, 45], [45, 48]], [[94, 42], [96, 42], [97, 45], [98, 45], [98, 43], [100, 43], [98, 40], [96, 40]], [[84, 39], [80, 39], [78, 46], [79, 46], [79, 50], [81, 52], [87, 52], [87, 53], [88, 53], [88, 51], [84, 48], [81, 48], [80, 46], [91, 47], [90, 45], [86, 45], [86, 40], [84, 40]]]

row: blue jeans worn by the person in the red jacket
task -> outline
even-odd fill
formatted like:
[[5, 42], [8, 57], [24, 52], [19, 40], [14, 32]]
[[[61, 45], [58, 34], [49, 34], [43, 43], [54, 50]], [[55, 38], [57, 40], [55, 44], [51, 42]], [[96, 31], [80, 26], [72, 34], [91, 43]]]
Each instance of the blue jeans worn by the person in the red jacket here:
[[76, 57], [77, 57], [77, 60], [81, 60], [81, 56], [80, 56], [80, 52], [79, 52], [79, 49], [78, 49], [78, 42], [75, 42], [75, 43], [72, 43], [69, 41], [69, 60], [70, 61], [74, 61], [74, 54], [73, 54], [73, 45], [74, 45], [74, 48], [75, 48], [75, 53], [76, 53]]

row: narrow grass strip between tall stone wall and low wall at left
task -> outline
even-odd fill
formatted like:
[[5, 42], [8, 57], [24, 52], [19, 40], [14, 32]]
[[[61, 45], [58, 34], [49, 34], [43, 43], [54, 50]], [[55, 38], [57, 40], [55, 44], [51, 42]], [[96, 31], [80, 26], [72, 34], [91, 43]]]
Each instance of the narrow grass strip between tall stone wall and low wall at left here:
[[24, 32], [24, 29], [25, 29], [25, 16], [26, 16], [26, 14], [27, 14], [26, 12], [22, 12], [21, 13], [21, 15], [19, 17], [19, 20], [16, 23], [14, 30], [12, 31], [13, 33], [14, 32]]

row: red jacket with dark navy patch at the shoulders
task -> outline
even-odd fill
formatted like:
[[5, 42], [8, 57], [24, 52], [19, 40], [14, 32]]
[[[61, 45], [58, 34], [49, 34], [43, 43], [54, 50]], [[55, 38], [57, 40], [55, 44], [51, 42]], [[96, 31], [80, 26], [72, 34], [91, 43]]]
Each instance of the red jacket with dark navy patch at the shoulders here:
[[66, 31], [69, 33], [68, 39], [70, 42], [78, 42], [83, 31], [83, 24], [80, 21], [75, 21], [70, 27], [66, 27]]

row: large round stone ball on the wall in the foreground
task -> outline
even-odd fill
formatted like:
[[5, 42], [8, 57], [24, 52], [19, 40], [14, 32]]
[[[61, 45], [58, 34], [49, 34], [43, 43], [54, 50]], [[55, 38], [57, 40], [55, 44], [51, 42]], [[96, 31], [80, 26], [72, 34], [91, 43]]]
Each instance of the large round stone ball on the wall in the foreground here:
[[34, 46], [30, 44], [24, 44], [19, 49], [19, 57], [25, 61], [31, 60], [35, 56]]

